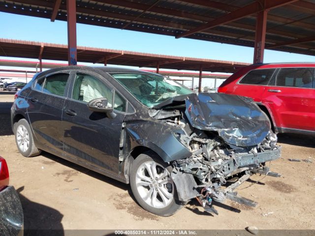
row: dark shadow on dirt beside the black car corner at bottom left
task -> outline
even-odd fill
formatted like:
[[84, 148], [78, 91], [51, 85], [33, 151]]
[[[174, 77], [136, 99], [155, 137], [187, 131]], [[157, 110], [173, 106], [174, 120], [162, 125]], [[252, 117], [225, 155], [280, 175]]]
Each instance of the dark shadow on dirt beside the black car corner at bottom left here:
[[63, 214], [52, 207], [32, 202], [21, 194], [23, 190], [24, 186], [16, 191], [24, 213], [24, 236], [64, 236]]

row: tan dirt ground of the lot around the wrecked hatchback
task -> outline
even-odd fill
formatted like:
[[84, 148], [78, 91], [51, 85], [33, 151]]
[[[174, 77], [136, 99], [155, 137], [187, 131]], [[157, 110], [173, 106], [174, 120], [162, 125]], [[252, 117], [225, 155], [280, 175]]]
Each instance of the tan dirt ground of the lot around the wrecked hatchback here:
[[283, 176], [253, 176], [238, 188], [239, 195], [258, 202], [256, 208], [226, 201], [216, 204], [219, 215], [212, 216], [192, 201], [173, 216], [159, 217], [139, 207], [126, 184], [46, 152], [23, 157], [5, 101], [12, 95], [0, 95], [0, 155], [7, 160], [10, 184], [20, 192], [25, 229], [315, 229], [314, 137], [279, 135], [282, 157], [271, 163], [271, 171]]

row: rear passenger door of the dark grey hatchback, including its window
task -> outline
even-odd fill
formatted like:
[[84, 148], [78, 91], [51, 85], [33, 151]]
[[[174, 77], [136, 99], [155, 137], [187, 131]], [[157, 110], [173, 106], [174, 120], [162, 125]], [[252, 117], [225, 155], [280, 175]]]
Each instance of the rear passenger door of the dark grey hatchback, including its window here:
[[69, 72], [38, 78], [29, 94], [28, 116], [36, 140], [48, 148], [63, 150], [61, 120]]

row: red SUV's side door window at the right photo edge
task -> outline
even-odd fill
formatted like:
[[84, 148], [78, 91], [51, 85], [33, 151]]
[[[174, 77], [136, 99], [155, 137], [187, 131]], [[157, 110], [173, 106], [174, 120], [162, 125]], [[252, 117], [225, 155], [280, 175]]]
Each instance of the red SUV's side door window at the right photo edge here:
[[313, 68], [282, 68], [276, 86], [312, 88]]

